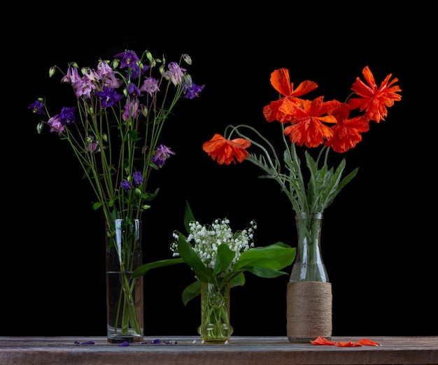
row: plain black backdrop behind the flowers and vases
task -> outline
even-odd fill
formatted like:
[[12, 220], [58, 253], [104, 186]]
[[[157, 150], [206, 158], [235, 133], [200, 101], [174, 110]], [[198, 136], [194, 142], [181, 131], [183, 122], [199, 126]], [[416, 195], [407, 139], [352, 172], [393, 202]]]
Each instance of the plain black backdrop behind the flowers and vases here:
[[[255, 219], [257, 245], [296, 245], [276, 183], [202, 151], [229, 123], [278, 138], [262, 115], [277, 96], [274, 69], [288, 68], [295, 85], [315, 81], [311, 96], [326, 100], [343, 100], [366, 65], [378, 84], [399, 78], [402, 101], [341, 156], [359, 173], [325, 210], [333, 335], [437, 335], [437, 44], [435, 1], [2, 1], [0, 335], [106, 336], [103, 217], [66, 143], [38, 136], [27, 107], [37, 97], [64, 105], [53, 64], [94, 67], [146, 48], [169, 62], [188, 53], [206, 87], [164, 128], [177, 155], [150, 181], [160, 194], [144, 216], [145, 262], [171, 257], [186, 200], [203, 223]], [[181, 301], [192, 280], [182, 265], [145, 276], [146, 336], [197, 335], [199, 302]], [[234, 335], [285, 336], [287, 282], [247, 274], [232, 289]]]

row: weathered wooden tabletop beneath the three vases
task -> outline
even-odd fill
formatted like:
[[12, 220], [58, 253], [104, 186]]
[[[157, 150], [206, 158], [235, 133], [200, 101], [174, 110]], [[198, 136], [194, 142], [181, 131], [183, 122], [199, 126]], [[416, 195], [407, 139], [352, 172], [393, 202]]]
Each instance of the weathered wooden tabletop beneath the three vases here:
[[[369, 338], [381, 346], [342, 348], [289, 343], [287, 337], [232, 336], [224, 345], [207, 345], [197, 336], [145, 337], [121, 347], [106, 337], [0, 337], [0, 364], [435, 364], [438, 336], [332, 337], [332, 341]], [[150, 343], [160, 340], [158, 344]], [[83, 343], [92, 341], [94, 344]], [[170, 342], [170, 343], [165, 343]], [[175, 341], [172, 343], [171, 341]]]

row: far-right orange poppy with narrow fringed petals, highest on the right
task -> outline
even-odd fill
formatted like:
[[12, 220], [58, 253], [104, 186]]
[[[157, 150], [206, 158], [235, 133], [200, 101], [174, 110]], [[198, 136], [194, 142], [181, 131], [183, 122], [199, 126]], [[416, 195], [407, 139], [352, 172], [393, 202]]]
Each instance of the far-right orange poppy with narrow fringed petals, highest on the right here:
[[393, 106], [394, 101], [402, 99], [402, 96], [397, 94], [397, 92], [402, 91], [400, 87], [398, 85], [391, 86], [397, 83], [398, 78], [390, 81], [391, 76], [393, 76], [390, 73], [383, 80], [380, 87], [377, 88], [374, 76], [368, 66], [365, 66], [362, 73], [368, 85], [362, 82], [360, 78], [356, 78], [351, 90], [362, 97], [349, 99], [348, 105], [351, 109], [360, 108], [360, 111], [365, 110], [365, 116], [368, 120], [375, 120], [379, 123], [380, 120], [385, 120], [386, 115], [388, 115], [386, 107]]

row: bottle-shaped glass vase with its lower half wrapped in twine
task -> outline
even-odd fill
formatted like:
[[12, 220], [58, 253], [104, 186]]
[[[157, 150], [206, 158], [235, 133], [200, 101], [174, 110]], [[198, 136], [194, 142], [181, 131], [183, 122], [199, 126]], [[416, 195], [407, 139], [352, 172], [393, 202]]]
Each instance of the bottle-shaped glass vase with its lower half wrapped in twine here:
[[287, 291], [287, 335], [292, 343], [332, 336], [332, 285], [320, 247], [323, 213], [296, 213], [297, 255]]

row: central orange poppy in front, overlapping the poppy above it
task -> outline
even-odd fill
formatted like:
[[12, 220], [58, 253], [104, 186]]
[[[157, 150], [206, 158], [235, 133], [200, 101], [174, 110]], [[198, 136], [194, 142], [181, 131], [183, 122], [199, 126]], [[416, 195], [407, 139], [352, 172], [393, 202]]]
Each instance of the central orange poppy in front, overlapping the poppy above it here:
[[332, 137], [332, 129], [324, 123], [336, 123], [336, 118], [333, 115], [322, 115], [334, 108], [339, 101], [323, 102], [323, 99], [324, 96], [318, 96], [313, 101], [302, 100], [300, 105], [286, 99], [278, 108], [279, 113], [290, 115], [292, 125], [284, 130], [284, 133], [289, 135], [290, 141], [297, 145], [304, 143], [311, 148], [318, 147], [326, 138]]

